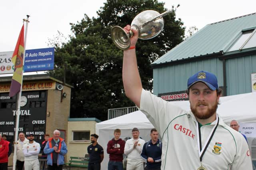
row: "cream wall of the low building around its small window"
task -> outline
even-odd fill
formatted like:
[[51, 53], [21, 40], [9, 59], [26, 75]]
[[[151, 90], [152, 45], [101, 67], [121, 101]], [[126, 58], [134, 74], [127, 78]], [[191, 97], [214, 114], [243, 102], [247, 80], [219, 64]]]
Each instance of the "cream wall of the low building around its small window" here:
[[69, 161], [70, 156], [84, 157], [85, 154], [87, 154], [87, 147], [91, 144], [90, 141], [72, 141], [72, 132], [90, 131], [90, 134], [94, 134], [96, 123], [96, 121], [68, 121], [68, 153], [66, 155], [67, 161]]

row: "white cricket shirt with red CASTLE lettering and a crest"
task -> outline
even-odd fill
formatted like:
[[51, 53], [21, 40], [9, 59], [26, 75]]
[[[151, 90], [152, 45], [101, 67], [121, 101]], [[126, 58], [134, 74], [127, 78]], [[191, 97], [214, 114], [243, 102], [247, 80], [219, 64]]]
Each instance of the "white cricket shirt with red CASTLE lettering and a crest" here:
[[[139, 108], [162, 137], [161, 170], [197, 170], [200, 167], [196, 118], [149, 91], [142, 90]], [[219, 117], [220, 118], [220, 117]], [[202, 146], [216, 124], [200, 128]], [[244, 137], [220, 118], [219, 125], [202, 158], [207, 170], [252, 170], [250, 151]]]

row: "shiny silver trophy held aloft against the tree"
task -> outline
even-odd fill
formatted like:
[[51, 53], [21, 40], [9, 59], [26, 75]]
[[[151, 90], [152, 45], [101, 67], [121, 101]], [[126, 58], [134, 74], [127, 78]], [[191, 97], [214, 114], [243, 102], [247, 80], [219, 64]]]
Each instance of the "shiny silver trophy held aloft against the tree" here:
[[[131, 23], [131, 29], [136, 29], [139, 33], [139, 39], [151, 39], [156, 37], [164, 28], [163, 16], [166, 16], [171, 11], [160, 14], [154, 10], [146, 10], [138, 14]], [[116, 47], [122, 50], [130, 48], [130, 37], [133, 36], [132, 31], [126, 33], [119, 26], [111, 28], [111, 37]]]

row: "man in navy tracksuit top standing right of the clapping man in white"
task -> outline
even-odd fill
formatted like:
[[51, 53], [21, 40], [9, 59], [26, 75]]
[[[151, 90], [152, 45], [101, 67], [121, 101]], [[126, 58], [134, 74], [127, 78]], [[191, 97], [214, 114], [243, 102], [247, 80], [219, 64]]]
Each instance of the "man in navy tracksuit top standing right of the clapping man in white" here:
[[156, 129], [151, 129], [150, 137], [151, 140], [143, 145], [140, 155], [147, 160], [145, 170], [160, 170], [162, 162], [162, 143], [158, 139], [158, 132]]

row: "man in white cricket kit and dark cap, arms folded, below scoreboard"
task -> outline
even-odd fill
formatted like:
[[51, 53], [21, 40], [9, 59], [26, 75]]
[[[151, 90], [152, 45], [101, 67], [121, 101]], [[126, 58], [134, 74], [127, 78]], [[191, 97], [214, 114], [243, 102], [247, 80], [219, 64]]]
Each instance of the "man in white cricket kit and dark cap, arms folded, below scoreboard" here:
[[39, 160], [38, 154], [40, 152], [40, 144], [34, 141], [34, 135], [30, 134], [28, 136], [29, 143], [23, 145], [23, 153], [24, 153], [24, 169], [25, 170], [39, 170]]

